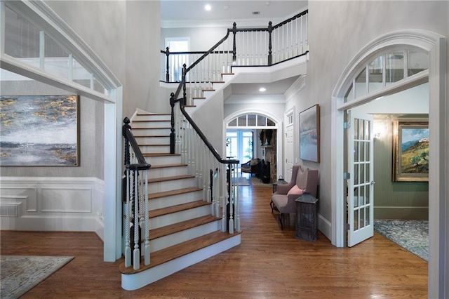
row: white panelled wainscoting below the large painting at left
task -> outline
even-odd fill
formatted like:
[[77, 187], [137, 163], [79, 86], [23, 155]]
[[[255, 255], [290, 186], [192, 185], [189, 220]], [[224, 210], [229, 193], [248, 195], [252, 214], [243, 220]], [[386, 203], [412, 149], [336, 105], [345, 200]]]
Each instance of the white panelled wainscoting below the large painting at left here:
[[98, 178], [0, 178], [1, 230], [95, 232], [103, 239]]

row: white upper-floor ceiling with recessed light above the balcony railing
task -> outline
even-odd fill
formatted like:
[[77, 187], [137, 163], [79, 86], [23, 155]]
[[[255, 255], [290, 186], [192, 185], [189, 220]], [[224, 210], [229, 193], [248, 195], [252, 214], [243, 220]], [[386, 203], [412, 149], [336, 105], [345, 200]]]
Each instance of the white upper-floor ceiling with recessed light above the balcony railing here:
[[[212, 9], [206, 11], [204, 6]], [[273, 25], [307, 9], [307, 1], [161, 0], [161, 27]], [[253, 15], [253, 12], [260, 12]]]

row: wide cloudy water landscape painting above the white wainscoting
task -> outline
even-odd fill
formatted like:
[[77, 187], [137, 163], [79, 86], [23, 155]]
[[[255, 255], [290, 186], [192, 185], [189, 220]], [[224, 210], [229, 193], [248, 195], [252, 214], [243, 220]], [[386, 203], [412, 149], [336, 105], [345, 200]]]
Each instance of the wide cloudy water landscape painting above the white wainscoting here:
[[78, 166], [77, 95], [0, 96], [1, 166]]

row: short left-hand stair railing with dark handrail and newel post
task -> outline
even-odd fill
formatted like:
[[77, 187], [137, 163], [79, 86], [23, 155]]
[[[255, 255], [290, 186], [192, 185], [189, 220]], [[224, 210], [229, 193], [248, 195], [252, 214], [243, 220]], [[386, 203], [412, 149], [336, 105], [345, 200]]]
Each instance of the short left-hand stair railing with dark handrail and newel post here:
[[[145, 265], [149, 265], [149, 215], [148, 215], [148, 170], [151, 165], [145, 161], [136, 142], [130, 120], [123, 120], [122, 135], [125, 140], [123, 178], [125, 267], [140, 268], [141, 244]], [[143, 231], [143, 236], [142, 236]]]

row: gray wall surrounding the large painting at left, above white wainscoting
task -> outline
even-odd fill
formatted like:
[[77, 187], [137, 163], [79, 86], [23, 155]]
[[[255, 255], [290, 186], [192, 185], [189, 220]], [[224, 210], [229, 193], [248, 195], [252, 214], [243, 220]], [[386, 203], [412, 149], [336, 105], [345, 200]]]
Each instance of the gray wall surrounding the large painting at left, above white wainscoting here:
[[[67, 95], [67, 91], [37, 81], [2, 81], [1, 95]], [[2, 176], [103, 178], [103, 104], [79, 98], [78, 167], [1, 167]]]

